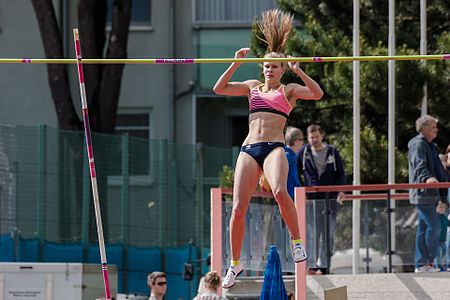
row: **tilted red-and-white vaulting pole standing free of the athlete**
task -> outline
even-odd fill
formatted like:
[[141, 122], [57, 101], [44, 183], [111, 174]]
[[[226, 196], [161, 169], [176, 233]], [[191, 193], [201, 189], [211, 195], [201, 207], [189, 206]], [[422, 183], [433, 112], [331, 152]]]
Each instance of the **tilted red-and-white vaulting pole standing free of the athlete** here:
[[84, 84], [83, 63], [81, 62], [81, 47], [78, 29], [73, 29], [75, 53], [77, 56], [78, 81], [80, 83], [81, 110], [84, 122], [84, 138], [86, 139], [87, 155], [89, 158], [89, 170], [91, 174], [92, 195], [94, 197], [95, 221], [97, 223], [98, 246], [100, 249], [100, 260], [102, 263], [103, 282], [105, 285], [105, 298], [111, 300], [109, 287], [108, 264], [106, 262], [105, 239], [103, 237], [102, 216], [100, 213], [100, 201], [98, 197], [97, 173], [95, 172], [94, 150], [92, 148], [91, 128], [89, 126], [89, 113], [86, 100], [86, 87]]

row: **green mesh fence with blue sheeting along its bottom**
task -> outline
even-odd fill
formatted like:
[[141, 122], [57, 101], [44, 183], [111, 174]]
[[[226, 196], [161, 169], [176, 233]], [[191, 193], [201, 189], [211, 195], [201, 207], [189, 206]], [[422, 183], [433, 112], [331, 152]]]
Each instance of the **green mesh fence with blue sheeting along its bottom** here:
[[[153, 268], [182, 280], [183, 264], [169, 266], [169, 256], [186, 249], [187, 260], [208, 255], [209, 191], [223, 166], [234, 164], [236, 149], [92, 138], [108, 262], [119, 266], [119, 290], [145, 292]], [[0, 196], [0, 261], [98, 260], [82, 132], [0, 125]], [[140, 252], [151, 259], [135, 261]], [[135, 273], [138, 287], [132, 287]]]

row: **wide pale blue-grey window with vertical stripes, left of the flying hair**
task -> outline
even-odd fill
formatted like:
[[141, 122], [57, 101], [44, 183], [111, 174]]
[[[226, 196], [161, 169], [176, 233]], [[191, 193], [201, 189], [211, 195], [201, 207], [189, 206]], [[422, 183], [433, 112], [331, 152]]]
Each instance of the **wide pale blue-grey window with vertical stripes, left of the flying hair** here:
[[247, 25], [261, 12], [277, 8], [277, 0], [192, 0], [197, 25]]

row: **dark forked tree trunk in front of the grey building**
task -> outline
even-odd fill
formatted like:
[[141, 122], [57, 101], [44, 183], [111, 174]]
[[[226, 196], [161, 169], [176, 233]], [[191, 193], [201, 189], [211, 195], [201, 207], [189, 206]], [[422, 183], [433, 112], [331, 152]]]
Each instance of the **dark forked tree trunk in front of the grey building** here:
[[[47, 58], [63, 58], [61, 32], [51, 0], [32, 0]], [[112, 2], [112, 23], [106, 43], [106, 0], [79, 0], [80, 42], [85, 58], [126, 58], [131, 0]], [[106, 47], [106, 50], [105, 50]], [[103, 55], [105, 53], [105, 55]], [[124, 65], [85, 65], [86, 94], [93, 131], [113, 133]], [[48, 81], [61, 129], [80, 130], [65, 65], [47, 65]], [[101, 107], [101, 109], [100, 109]]]

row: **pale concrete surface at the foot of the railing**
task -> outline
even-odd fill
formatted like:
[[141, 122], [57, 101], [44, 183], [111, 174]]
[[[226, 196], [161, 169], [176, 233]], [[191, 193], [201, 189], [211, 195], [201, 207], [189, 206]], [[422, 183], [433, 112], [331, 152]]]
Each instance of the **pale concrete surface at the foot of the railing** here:
[[[259, 299], [262, 277], [246, 277], [224, 295], [229, 299]], [[294, 278], [285, 276], [286, 289], [294, 291]], [[392, 273], [307, 276], [308, 299], [324, 299], [325, 289], [347, 286], [348, 299], [450, 300], [450, 272], [435, 274]]]

